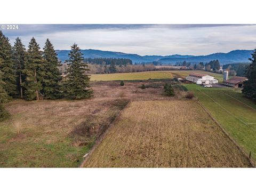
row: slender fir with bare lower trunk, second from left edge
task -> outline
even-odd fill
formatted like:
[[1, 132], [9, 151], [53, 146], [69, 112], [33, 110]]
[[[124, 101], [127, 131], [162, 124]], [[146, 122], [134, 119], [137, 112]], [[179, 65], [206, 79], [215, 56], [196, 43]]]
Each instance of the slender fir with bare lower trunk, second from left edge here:
[[25, 65], [26, 49], [22, 44], [21, 39], [17, 37], [13, 46], [13, 59], [17, 69], [17, 86], [20, 98], [23, 98], [23, 86], [22, 82], [25, 81], [25, 76], [22, 73]]

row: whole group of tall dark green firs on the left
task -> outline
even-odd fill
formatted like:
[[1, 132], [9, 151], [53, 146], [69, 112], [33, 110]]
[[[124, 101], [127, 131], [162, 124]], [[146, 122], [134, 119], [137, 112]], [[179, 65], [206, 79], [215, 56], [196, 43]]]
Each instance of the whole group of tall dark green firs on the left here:
[[19, 37], [12, 46], [0, 31], [0, 103], [12, 98], [39, 100], [91, 97], [93, 90], [89, 85], [90, 78], [85, 74], [89, 69], [83, 62], [83, 54], [77, 44], [71, 46], [68, 56], [67, 76], [62, 78], [60, 62], [49, 39], [46, 39], [41, 50], [33, 37], [26, 50]]

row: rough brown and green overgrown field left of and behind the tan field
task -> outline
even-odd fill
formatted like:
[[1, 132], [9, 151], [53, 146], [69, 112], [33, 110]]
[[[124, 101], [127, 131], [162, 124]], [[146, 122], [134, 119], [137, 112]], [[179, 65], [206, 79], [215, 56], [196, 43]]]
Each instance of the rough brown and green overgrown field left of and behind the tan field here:
[[[147, 89], [140, 89], [145, 84]], [[78, 167], [95, 138], [130, 100], [179, 99], [163, 94], [163, 82], [94, 82], [84, 100], [14, 100], [0, 122], [0, 167]]]

